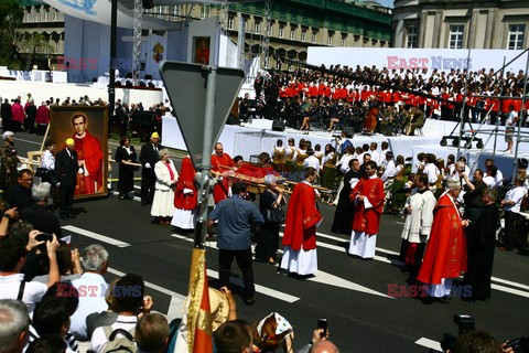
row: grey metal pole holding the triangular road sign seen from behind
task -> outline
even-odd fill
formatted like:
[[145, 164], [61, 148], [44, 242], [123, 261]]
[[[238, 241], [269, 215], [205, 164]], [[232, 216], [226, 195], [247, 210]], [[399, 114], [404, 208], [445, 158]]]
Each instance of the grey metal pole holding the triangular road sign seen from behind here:
[[217, 67], [204, 66], [203, 72], [207, 81], [206, 109], [204, 121], [204, 145], [202, 148], [202, 181], [201, 206], [195, 232], [195, 247], [204, 247], [204, 237], [207, 231], [207, 200], [209, 196], [209, 171], [212, 169], [213, 118], [215, 111], [215, 89], [217, 87]]

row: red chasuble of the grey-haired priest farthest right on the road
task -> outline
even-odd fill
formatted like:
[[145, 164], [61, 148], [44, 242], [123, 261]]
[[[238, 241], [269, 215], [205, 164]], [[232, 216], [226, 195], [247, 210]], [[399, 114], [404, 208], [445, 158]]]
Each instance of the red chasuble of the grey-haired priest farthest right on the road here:
[[445, 194], [433, 210], [433, 224], [417, 279], [441, 285], [442, 278], [457, 278], [466, 271], [466, 239], [457, 208]]

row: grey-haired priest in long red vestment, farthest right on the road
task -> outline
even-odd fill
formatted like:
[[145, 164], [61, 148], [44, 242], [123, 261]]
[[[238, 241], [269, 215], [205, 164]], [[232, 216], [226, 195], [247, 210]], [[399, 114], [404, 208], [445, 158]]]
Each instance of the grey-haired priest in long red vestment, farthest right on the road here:
[[449, 178], [449, 191], [442, 195], [433, 210], [433, 224], [427, 252], [417, 279], [425, 285], [430, 297], [450, 296], [452, 280], [466, 271], [466, 237], [464, 227], [468, 221], [462, 220], [455, 200], [461, 193], [461, 181]]

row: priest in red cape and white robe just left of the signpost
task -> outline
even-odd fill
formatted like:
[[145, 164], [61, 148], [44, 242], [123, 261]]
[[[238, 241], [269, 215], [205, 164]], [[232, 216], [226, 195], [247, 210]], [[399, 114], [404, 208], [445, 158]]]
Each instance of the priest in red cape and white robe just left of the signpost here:
[[198, 189], [195, 168], [190, 156], [182, 160], [179, 181], [174, 191], [174, 211], [171, 224], [180, 229], [194, 229]]

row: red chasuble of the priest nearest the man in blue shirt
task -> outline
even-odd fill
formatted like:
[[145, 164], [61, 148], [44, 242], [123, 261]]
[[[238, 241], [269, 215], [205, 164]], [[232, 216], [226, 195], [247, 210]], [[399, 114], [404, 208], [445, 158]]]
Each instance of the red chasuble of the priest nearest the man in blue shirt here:
[[293, 250], [316, 248], [316, 224], [322, 220], [322, 214], [316, 208], [314, 189], [305, 183], [295, 185], [287, 210], [287, 224], [284, 226], [283, 245]]

